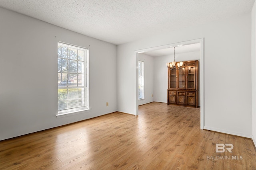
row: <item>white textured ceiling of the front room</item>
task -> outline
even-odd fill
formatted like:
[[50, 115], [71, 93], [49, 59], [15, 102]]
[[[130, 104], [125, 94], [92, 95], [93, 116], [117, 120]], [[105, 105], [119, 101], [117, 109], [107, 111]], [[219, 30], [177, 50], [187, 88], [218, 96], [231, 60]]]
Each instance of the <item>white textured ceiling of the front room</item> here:
[[254, 0], [0, 0], [0, 6], [116, 45], [246, 14]]

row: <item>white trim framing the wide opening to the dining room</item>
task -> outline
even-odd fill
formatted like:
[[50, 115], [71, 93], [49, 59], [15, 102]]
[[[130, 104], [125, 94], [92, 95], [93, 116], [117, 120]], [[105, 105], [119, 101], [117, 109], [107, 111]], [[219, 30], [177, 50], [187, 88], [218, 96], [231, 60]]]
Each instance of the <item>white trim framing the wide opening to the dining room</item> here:
[[138, 55], [139, 53], [144, 53], [147, 51], [166, 49], [169, 47], [176, 47], [178, 45], [189, 45], [200, 43], [200, 129], [204, 129], [204, 38], [193, 39], [189, 41], [183, 41], [178, 43], [172, 43], [168, 45], [161, 45], [158, 47], [150, 47], [147, 49], [136, 50], [136, 114], [139, 115], [139, 106], [138, 106]]

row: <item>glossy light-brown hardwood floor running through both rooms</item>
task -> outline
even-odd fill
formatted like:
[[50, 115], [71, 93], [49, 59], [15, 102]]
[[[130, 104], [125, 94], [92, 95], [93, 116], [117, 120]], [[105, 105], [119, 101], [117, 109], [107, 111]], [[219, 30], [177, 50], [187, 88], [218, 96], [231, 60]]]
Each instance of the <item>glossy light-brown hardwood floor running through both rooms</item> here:
[[[232, 153], [216, 153], [216, 143]], [[256, 150], [251, 139], [201, 130], [198, 108], [153, 102], [139, 116], [115, 112], [0, 141], [0, 169], [256, 170]]]

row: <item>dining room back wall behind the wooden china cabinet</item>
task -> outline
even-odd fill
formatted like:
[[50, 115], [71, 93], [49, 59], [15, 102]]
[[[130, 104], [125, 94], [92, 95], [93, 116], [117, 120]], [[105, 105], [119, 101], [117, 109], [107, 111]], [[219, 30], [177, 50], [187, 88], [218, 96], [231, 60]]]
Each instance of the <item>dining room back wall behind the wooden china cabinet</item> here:
[[[154, 57], [154, 102], [167, 103], [168, 70], [166, 63], [172, 62], [173, 58], [173, 55]], [[192, 60], [200, 61], [200, 51], [175, 55], [176, 62]], [[198, 82], [198, 85], [200, 85], [200, 82]], [[198, 88], [200, 89], [200, 86], [198, 86]], [[198, 97], [198, 106], [200, 106], [200, 93], [198, 93]]]

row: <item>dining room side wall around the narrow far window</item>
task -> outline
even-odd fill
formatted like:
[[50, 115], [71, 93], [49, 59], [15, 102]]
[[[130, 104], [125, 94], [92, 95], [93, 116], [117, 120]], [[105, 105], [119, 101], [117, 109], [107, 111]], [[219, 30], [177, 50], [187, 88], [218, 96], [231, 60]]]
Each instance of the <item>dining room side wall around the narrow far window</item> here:
[[138, 60], [144, 61], [144, 99], [138, 101], [140, 106], [154, 101], [154, 58], [141, 53]]

